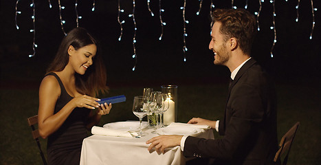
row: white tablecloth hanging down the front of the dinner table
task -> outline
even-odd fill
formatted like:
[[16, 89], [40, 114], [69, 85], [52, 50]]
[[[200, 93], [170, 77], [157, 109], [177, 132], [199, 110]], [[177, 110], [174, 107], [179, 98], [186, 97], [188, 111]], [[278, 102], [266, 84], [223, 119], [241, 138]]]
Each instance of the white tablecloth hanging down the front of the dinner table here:
[[[145, 130], [148, 135], [136, 137], [112, 137], [104, 135], [91, 135], [82, 142], [80, 165], [167, 165], [186, 164], [186, 158], [180, 146], [168, 149], [166, 153], [158, 155], [149, 152], [146, 141], [157, 134], [151, 133], [153, 129]], [[214, 139], [212, 130], [207, 130], [198, 135], [207, 139]]]

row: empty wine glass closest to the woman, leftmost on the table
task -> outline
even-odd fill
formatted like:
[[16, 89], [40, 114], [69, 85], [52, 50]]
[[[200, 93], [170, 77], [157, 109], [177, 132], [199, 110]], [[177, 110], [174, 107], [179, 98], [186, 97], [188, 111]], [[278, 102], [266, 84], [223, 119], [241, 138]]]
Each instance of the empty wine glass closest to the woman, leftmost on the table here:
[[140, 131], [138, 132], [138, 136], [143, 135], [142, 131], [142, 119], [148, 113], [148, 98], [146, 96], [135, 96], [133, 101], [133, 113], [140, 118]]

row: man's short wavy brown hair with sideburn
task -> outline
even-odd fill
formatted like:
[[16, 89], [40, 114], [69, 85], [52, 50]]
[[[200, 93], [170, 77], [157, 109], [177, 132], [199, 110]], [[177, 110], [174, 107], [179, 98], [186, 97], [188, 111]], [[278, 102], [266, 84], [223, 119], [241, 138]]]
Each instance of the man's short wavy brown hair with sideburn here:
[[244, 54], [251, 54], [252, 43], [256, 35], [256, 19], [244, 9], [217, 9], [212, 13], [212, 24], [221, 22], [220, 33], [224, 41], [236, 38]]

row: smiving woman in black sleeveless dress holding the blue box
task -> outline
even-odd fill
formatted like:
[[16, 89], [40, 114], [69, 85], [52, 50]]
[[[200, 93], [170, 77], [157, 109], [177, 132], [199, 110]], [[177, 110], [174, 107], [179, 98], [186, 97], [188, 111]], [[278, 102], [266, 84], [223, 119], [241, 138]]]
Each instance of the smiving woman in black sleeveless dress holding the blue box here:
[[[47, 138], [49, 164], [79, 164], [87, 129], [108, 114], [111, 104], [98, 104], [107, 91], [106, 71], [97, 42], [83, 28], [63, 39], [39, 88], [38, 126]], [[98, 109], [98, 111], [93, 111]]]

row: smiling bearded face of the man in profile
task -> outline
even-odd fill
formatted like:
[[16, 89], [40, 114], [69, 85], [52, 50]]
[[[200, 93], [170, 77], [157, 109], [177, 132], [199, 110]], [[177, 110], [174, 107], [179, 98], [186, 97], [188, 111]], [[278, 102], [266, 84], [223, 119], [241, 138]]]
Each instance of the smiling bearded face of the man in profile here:
[[221, 22], [215, 22], [212, 27], [211, 41], [208, 48], [214, 52], [214, 64], [215, 65], [226, 65], [230, 58], [230, 52], [226, 49], [226, 44], [223, 40], [223, 35], [219, 32]]

